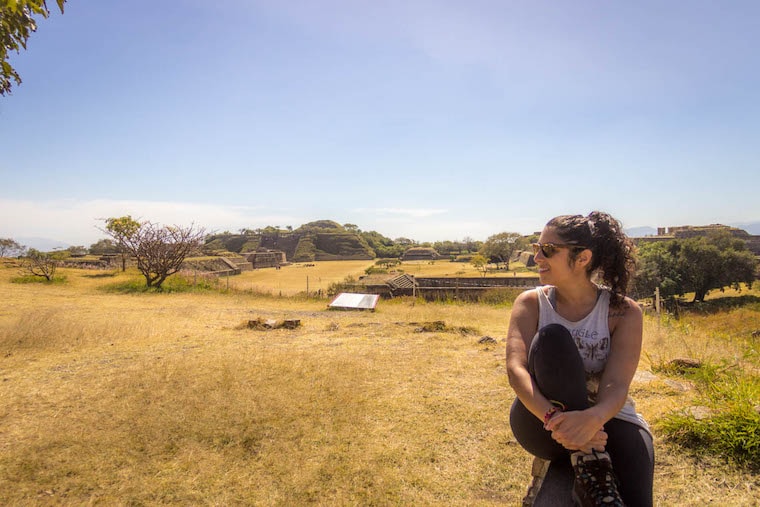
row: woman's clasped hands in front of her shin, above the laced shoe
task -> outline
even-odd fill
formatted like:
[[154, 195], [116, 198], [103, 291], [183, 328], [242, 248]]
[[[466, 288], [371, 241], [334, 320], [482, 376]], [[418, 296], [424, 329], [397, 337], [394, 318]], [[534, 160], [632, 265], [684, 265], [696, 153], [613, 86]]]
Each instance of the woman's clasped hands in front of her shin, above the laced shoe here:
[[569, 450], [603, 451], [607, 444], [607, 433], [602, 428], [602, 421], [589, 410], [557, 412], [544, 428], [552, 432], [554, 440]]

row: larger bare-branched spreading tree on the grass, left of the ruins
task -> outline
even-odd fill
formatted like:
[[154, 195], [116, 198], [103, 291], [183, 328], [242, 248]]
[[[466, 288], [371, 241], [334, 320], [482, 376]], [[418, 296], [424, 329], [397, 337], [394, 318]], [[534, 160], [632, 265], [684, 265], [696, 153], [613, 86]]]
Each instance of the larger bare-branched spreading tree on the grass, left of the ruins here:
[[107, 219], [104, 232], [137, 259], [146, 285], [156, 288], [180, 270], [185, 258], [201, 247], [206, 234], [193, 225], [160, 226], [130, 216]]

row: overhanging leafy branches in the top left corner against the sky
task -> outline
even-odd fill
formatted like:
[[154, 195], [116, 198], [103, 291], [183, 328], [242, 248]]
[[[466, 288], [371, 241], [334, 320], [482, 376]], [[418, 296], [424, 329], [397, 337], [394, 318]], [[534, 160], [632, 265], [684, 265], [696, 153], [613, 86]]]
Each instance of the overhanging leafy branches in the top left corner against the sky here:
[[[66, 0], [56, 0], [63, 13]], [[8, 63], [8, 52], [26, 49], [27, 40], [37, 31], [35, 16], [50, 15], [45, 0], [5, 0], [0, 3], [0, 95], [11, 93], [12, 81], [21, 84], [21, 76]]]

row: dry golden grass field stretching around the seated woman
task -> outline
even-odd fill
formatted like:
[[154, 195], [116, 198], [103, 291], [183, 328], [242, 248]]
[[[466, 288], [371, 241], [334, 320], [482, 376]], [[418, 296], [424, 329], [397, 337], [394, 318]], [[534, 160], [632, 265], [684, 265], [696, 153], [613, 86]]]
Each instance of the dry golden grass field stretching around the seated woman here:
[[[18, 284], [0, 267], [0, 505], [519, 505], [531, 460], [507, 423], [509, 308], [278, 297], [371, 263], [340, 264], [164, 294], [101, 290], [129, 272]], [[760, 312], [737, 311], [647, 317], [641, 370], [745, 361]], [[247, 328], [257, 317], [302, 326]], [[447, 328], [421, 331], [431, 321]], [[693, 396], [659, 376], [633, 394], [650, 421]], [[656, 446], [657, 505], [758, 504], [756, 474]]]

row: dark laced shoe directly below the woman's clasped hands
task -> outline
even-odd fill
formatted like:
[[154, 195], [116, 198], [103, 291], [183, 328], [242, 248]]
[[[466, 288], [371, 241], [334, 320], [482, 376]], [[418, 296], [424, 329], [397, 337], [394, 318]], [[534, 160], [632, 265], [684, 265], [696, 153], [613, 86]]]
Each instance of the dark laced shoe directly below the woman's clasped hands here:
[[612, 471], [612, 461], [606, 452], [584, 454], [573, 453], [571, 456], [575, 471], [573, 499], [581, 507], [599, 505], [624, 507], [623, 499], [617, 488], [617, 477]]

